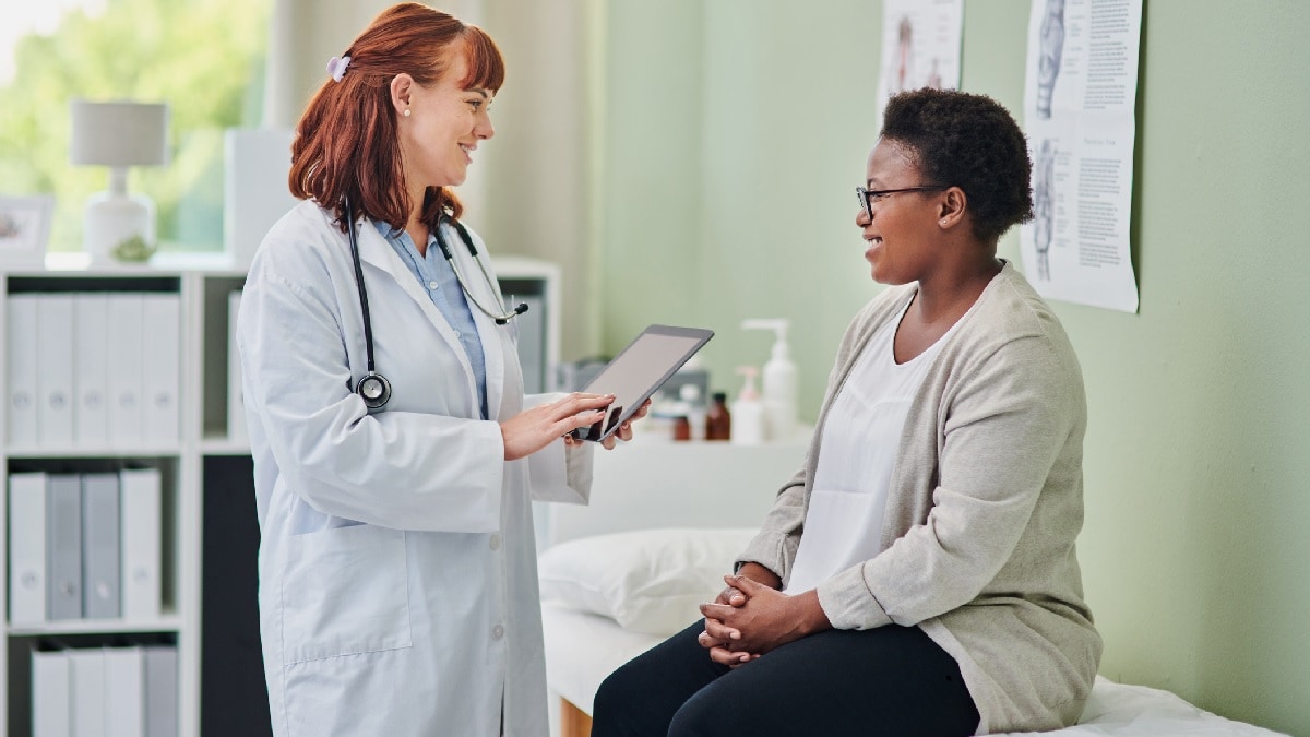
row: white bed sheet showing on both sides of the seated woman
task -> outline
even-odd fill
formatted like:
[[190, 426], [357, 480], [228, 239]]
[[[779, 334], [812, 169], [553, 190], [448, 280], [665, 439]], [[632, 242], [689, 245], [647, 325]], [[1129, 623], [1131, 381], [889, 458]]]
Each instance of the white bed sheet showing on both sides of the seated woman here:
[[[558, 602], [542, 603], [546, 636], [546, 682], [550, 691], [569, 699], [579, 709], [592, 711], [601, 681], [663, 637], [629, 632], [609, 618], [569, 608]], [[1035, 734], [1032, 732], [1014, 732]], [[1276, 737], [1277, 732], [1224, 719], [1200, 709], [1179, 696], [1149, 688], [1115, 683], [1096, 677], [1082, 720], [1045, 734], [1061, 737]]]

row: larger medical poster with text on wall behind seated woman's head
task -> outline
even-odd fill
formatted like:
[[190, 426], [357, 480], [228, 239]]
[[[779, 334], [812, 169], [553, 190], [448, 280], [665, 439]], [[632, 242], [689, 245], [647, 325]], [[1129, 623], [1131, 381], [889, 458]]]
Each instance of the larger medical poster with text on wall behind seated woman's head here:
[[1137, 312], [1129, 224], [1142, 0], [1032, 0], [1024, 129], [1034, 220], [1019, 228], [1049, 299]]

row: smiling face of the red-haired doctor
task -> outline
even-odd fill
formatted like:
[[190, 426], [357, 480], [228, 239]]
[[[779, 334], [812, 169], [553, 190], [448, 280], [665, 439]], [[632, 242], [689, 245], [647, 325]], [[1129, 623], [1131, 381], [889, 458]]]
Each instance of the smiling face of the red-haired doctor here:
[[[461, 87], [468, 60], [455, 51], [449, 70], [431, 85], [410, 80], [398, 97], [398, 136], [409, 190], [464, 184], [478, 143], [495, 135], [489, 108], [494, 93]], [[407, 75], [398, 75], [407, 77]], [[403, 111], [410, 114], [405, 117]]]

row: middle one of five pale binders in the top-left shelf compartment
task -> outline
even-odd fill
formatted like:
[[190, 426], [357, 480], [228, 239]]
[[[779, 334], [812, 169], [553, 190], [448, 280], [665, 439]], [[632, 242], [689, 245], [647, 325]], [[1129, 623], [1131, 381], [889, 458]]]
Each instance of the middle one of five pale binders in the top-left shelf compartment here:
[[109, 442], [109, 298], [73, 298], [73, 443]]

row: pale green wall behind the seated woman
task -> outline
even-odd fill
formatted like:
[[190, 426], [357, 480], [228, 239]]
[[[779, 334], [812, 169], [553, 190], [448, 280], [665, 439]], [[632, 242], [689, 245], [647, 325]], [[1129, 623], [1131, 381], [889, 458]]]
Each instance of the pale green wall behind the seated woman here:
[[[803, 8], [803, 10], [802, 10]], [[814, 418], [878, 291], [853, 188], [876, 134], [880, 3], [604, 4], [591, 207], [603, 348], [717, 330], [717, 388], [789, 317]], [[1028, 3], [969, 0], [964, 89], [1022, 113]], [[1310, 4], [1148, 0], [1137, 315], [1055, 303], [1090, 429], [1087, 598], [1102, 673], [1310, 734]], [[1011, 233], [1002, 252], [1018, 260]]]

